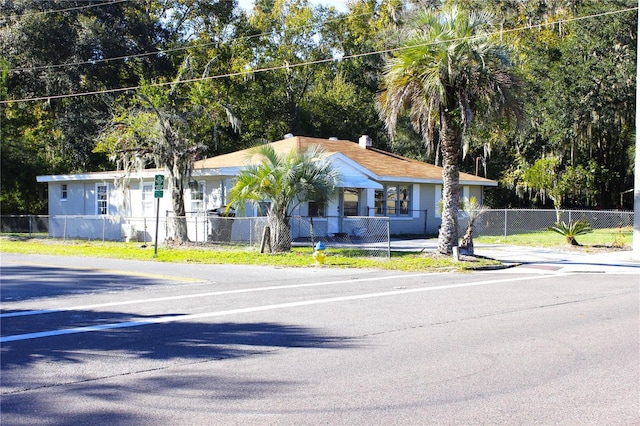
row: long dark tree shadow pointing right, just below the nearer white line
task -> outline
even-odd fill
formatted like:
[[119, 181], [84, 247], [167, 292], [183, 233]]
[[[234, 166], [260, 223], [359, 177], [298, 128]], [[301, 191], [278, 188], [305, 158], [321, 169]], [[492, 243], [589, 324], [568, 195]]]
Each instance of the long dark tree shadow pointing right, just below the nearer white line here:
[[[91, 317], [95, 312], [65, 312], [65, 315]], [[164, 315], [166, 316], [166, 315]], [[101, 312], [100, 317], [130, 320], [122, 313]], [[136, 316], [137, 320], [143, 318]], [[6, 322], [6, 320], [4, 321]], [[75, 324], [74, 324], [75, 325]], [[15, 335], [6, 329], [4, 336]], [[227, 359], [274, 348], [344, 348], [351, 343], [342, 336], [321, 330], [277, 323], [197, 323], [175, 322], [96, 331], [66, 336], [44, 337], [2, 344], [2, 386], [11, 385], [20, 374], [11, 370], [36, 363], [83, 363], [103, 356], [168, 360]]]

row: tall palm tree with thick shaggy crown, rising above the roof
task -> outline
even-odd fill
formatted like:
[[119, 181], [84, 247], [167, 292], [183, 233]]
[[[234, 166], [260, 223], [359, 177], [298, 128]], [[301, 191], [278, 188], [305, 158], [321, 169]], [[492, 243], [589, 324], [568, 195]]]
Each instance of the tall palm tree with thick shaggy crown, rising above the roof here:
[[459, 161], [473, 114], [519, 111], [508, 49], [492, 38], [492, 17], [458, 8], [420, 9], [409, 17], [399, 48], [387, 60], [380, 115], [391, 138], [408, 110], [425, 144], [442, 152], [442, 225], [438, 251], [451, 254], [458, 240]]

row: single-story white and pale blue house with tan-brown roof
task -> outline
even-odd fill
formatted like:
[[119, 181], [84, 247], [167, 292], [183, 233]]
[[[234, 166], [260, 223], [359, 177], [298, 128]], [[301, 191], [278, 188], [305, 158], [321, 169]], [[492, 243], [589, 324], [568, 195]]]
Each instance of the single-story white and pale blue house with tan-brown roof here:
[[[337, 195], [326, 206], [303, 203], [292, 216], [313, 217], [327, 234], [353, 233], [350, 219], [385, 217], [391, 235], [435, 234], [440, 225], [439, 204], [442, 194], [442, 168], [373, 148], [371, 139], [362, 136], [358, 143], [348, 140], [291, 136], [273, 142], [279, 153], [304, 150], [320, 145], [340, 171]], [[227, 193], [238, 171], [249, 161], [249, 149], [196, 161], [192, 183], [185, 195], [189, 217], [201, 217], [190, 224], [190, 238], [203, 241], [204, 226], [211, 212], [227, 204]], [[131, 173], [122, 184], [123, 172], [80, 173], [38, 176], [49, 186], [49, 233], [52, 236], [81, 238], [153, 240], [156, 209], [161, 220], [172, 214], [168, 191], [156, 198], [155, 176], [161, 170]], [[481, 203], [483, 189], [497, 186], [490, 179], [460, 173], [461, 197], [476, 197]], [[246, 216], [261, 216], [261, 206], [248, 209]], [[166, 233], [160, 229], [158, 240]], [[295, 230], [294, 230], [295, 234]], [[316, 231], [316, 235], [317, 231]], [[294, 235], [304, 237], [304, 235]], [[209, 234], [208, 237], [211, 237]]]

